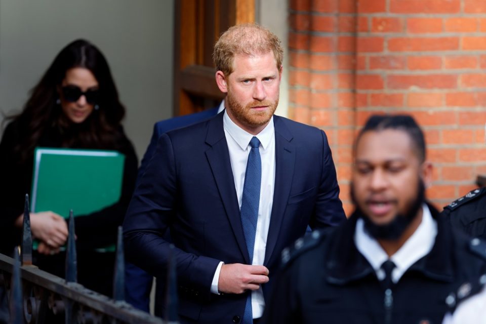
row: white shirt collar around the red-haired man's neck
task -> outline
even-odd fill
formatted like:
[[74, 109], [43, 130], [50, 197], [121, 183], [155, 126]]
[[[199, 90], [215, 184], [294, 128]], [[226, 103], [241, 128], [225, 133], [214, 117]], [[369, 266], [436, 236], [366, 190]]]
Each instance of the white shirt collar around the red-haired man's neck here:
[[234, 139], [234, 141], [241, 147], [242, 150], [246, 151], [248, 144], [253, 136], [256, 136], [261, 143], [263, 149], [266, 149], [270, 144], [273, 137], [274, 126], [273, 126], [273, 116], [270, 118], [267, 126], [258, 133], [257, 135], [252, 135], [236, 125], [233, 120], [228, 116], [227, 111], [224, 111], [223, 116], [223, 127], [228, 132], [228, 134]]

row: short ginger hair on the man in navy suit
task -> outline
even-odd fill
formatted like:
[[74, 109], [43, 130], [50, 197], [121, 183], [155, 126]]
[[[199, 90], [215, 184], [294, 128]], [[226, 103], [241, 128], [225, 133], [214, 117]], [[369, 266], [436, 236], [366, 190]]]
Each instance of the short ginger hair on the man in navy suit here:
[[233, 72], [233, 59], [236, 54], [259, 55], [273, 52], [277, 69], [284, 60], [284, 50], [280, 39], [265, 27], [258, 24], [239, 24], [230, 27], [214, 46], [213, 61], [216, 69], [224, 75]]

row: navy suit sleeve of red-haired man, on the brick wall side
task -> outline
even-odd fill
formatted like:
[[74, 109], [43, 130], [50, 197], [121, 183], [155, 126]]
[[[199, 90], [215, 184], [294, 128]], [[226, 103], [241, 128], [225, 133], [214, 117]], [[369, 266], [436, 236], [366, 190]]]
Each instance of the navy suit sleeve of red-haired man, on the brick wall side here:
[[322, 131], [320, 133], [322, 136], [322, 170], [314, 206], [314, 217], [311, 218], [309, 224], [312, 229], [337, 226], [346, 220], [343, 204], [339, 199], [339, 185], [331, 148], [326, 134]]

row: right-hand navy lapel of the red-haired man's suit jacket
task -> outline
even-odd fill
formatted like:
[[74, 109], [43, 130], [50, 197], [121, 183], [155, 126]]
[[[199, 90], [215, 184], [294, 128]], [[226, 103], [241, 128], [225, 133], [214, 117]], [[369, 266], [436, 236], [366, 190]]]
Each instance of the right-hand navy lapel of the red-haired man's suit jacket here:
[[264, 264], [270, 260], [278, 239], [289, 200], [295, 166], [295, 147], [291, 143], [293, 136], [278, 116], [274, 115], [273, 120], [275, 126], [275, 185]]

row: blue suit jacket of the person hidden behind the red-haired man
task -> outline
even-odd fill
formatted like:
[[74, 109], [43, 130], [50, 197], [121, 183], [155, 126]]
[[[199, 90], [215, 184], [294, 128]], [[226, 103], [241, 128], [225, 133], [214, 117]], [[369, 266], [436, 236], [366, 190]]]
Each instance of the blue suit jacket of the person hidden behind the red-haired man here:
[[[157, 146], [157, 141], [160, 135], [185, 126], [192, 125], [194, 123], [198, 123], [199, 121], [206, 120], [208, 118], [214, 117], [218, 113], [218, 107], [213, 109], [204, 110], [201, 112], [191, 113], [188, 115], [177, 116], [173, 118], [169, 118], [166, 120], [160, 120], [155, 123], [153, 126], [152, 138], [150, 139], [150, 144], [143, 155], [142, 162], [140, 164], [140, 168], [138, 169], [138, 178], [139, 180], [142, 174], [145, 172], [147, 168], [148, 162], [155, 151], [155, 147]], [[169, 234], [166, 235], [169, 237]], [[152, 288], [152, 276], [147, 272], [143, 271], [142, 269], [134, 266], [133, 264], [127, 262], [125, 266], [125, 300], [132, 304], [133, 306], [141, 309], [143, 311], [149, 312], [149, 302], [150, 302], [150, 290]], [[163, 280], [162, 280], [163, 281]], [[161, 315], [159, 296], [163, 296], [164, 291], [160, 289], [157, 290], [155, 295], [155, 315]]]

